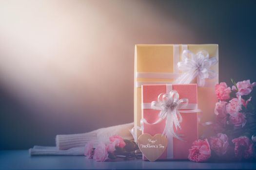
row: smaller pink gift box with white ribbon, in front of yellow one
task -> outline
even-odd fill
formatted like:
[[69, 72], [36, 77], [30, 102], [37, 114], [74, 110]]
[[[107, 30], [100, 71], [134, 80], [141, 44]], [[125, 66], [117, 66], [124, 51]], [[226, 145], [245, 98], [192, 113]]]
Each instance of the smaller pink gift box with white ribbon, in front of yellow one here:
[[[169, 93], [170, 90], [176, 90], [179, 94], [179, 99], [187, 98], [189, 105], [197, 106], [197, 84], [188, 85], [142, 85], [142, 105], [149, 104], [153, 101], [158, 101], [160, 93]], [[148, 123], [156, 122], [159, 117], [159, 110], [149, 109], [142, 106], [142, 119], [146, 119]], [[192, 143], [198, 139], [197, 132], [197, 113], [180, 113], [182, 122], [181, 129], [175, 129], [177, 134], [182, 135], [183, 140], [179, 140], [172, 136], [167, 136], [168, 146], [159, 159], [188, 159], [189, 149]], [[166, 119], [166, 118], [165, 118]], [[162, 134], [165, 127], [165, 119], [154, 125], [143, 123], [142, 134]], [[143, 155], [143, 159], [147, 158]]]

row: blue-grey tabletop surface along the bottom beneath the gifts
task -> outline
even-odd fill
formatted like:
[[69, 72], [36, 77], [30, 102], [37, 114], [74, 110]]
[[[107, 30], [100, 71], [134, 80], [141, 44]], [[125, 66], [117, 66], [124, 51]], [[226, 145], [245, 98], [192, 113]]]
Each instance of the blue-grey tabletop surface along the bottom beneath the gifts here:
[[87, 169], [254, 169], [256, 162], [195, 163], [191, 161], [126, 160], [96, 162], [85, 156], [30, 156], [27, 150], [0, 151], [0, 170]]

